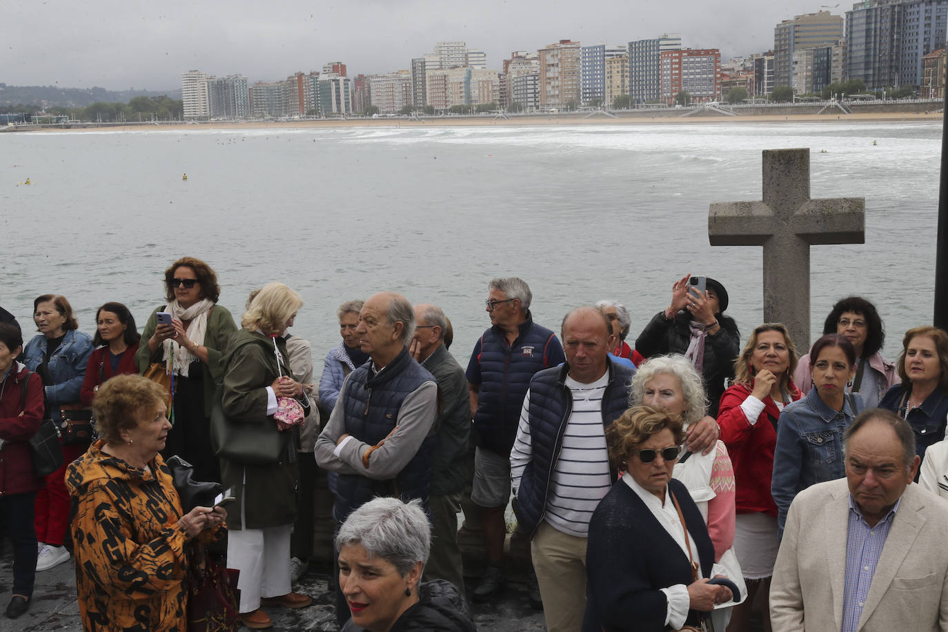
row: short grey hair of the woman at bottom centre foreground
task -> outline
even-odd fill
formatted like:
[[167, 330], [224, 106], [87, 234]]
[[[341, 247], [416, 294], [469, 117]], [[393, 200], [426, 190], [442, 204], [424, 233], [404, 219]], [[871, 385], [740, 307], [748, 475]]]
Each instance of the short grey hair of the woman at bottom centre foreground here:
[[421, 501], [379, 497], [365, 503], [346, 518], [336, 536], [336, 551], [355, 545], [361, 545], [369, 557], [390, 562], [402, 577], [418, 562], [424, 565], [431, 527]]

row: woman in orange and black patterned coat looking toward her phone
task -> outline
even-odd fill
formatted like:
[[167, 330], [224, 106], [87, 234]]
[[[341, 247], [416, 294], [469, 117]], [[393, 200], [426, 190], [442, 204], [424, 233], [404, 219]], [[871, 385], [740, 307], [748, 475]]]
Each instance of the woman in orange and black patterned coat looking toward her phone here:
[[188, 629], [186, 543], [224, 524], [223, 508], [185, 514], [158, 454], [172, 425], [167, 393], [118, 375], [92, 403], [101, 439], [69, 465], [76, 588], [86, 630]]

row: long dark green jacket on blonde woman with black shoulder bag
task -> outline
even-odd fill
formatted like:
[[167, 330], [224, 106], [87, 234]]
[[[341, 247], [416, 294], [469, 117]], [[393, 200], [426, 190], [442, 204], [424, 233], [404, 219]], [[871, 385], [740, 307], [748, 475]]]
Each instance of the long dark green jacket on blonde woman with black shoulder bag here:
[[[285, 360], [283, 338], [277, 338], [277, 346]], [[221, 403], [224, 414], [228, 420], [238, 424], [267, 424], [276, 432], [273, 418], [266, 414], [266, 387], [278, 377], [273, 339], [242, 329], [230, 336], [227, 350], [222, 360], [224, 394]], [[283, 370], [283, 375], [287, 374], [293, 377], [289, 370]], [[295, 430], [287, 432], [296, 433]], [[287, 458], [272, 465], [245, 465], [221, 459], [221, 477], [225, 489], [232, 489], [237, 498], [228, 506], [229, 529], [244, 529], [245, 526], [246, 529], [264, 529], [293, 524], [299, 479], [293, 442], [287, 449]], [[242, 507], [246, 525], [241, 522]]]

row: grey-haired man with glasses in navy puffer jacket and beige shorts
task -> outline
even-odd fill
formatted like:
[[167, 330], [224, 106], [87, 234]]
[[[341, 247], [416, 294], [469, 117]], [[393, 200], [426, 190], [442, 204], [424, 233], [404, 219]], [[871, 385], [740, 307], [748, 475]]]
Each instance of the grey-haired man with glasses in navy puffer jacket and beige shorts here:
[[[487, 285], [491, 327], [483, 333], [467, 364], [467, 388], [477, 437], [471, 500], [482, 509], [487, 570], [474, 590], [485, 602], [506, 587], [503, 576], [503, 514], [510, 499], [510, 448], [517, 436], [523, 396], [538, 370], [566, 359], [556, 334], [530, 316], [530, 287], [517, 277]], [[530, 605], [542, 602], [531, 568], [527, 577]]]

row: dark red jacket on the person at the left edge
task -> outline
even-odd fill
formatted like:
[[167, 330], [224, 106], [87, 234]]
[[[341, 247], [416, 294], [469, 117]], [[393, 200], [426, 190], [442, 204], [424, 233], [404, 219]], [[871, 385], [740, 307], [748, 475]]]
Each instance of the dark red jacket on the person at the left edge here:
[[33, 476], [33, 458], [27, 445], [43, 421], [43, 379], [36, 373], [29, 376], [27, 404], [24, 406], [25, 379], [26, 367], [14, 364], [0, 394], [0, 439], [3, 440], [0, 448], [0, 497], [26, 494], [46, 487], [42, 478]]

